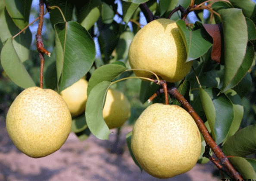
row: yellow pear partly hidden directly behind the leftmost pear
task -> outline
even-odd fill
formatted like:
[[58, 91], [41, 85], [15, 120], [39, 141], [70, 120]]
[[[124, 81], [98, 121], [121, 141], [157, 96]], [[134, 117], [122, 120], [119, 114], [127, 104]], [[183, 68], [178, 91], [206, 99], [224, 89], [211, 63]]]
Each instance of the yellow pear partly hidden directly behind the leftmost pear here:
[[76, 117], [84, 113], [87, 102], [88, 82], [84, 78], [60, 92], [69, 107], [71, 116]]

